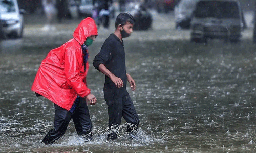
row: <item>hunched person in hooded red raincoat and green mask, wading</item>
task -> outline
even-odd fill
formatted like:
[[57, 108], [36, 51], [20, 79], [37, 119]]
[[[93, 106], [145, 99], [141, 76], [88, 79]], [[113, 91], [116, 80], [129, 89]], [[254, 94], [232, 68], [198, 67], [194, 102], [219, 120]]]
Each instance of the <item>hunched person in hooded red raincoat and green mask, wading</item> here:
[[87, 47], [98, 35], [95, 21], [83, 19], [75, 29], [73, 39], [51, 50], [42, 60], [31, 90], [36, 96], [44, 96], [54, 103], [54, 128], [42, 140], [54, 143], [65, 134], [71, 118], [76, 132], [86, 140], [92, 140], [92, 122], [87, 104], [94, 105], [96, 97], [87, 87], [89, 69]]

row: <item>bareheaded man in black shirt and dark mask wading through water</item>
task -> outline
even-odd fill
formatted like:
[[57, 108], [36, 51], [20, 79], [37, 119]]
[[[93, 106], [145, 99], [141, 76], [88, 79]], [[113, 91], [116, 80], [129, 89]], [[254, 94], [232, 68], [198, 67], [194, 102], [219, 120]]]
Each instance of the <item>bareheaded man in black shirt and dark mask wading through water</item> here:
[[134, 136], [139, 125], [139, 117], [133, 101], [126, 90], [128, 81], [133, 91], [136, 84], [130, 74], [126, 73], [125, 52], [122, 38], [129, 37], [133, 32], [134, 18], [129, 13], [120, 13], [115, 22], [115, 32], [104, 42], [99, 54], [93, 61], [93, 66], [105, 74], [104, 97], [108, 105], [109, 134], [108, 140], [117, 138], [117, 128], [121, 118], [128, 123], [127, 132]]

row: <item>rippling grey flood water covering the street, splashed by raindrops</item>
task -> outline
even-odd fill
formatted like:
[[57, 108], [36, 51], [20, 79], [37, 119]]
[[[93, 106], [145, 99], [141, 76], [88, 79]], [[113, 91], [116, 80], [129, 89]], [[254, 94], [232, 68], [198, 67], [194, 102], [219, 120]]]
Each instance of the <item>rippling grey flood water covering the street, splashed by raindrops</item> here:
[[54, 107], [30, 88], [42, 59], [72, 32], [32, 29], [23, 39], [2, 42], [0, 152], [255, 152], [256, 45], [249, 38], [239, 44], [190, 43], [189, 31], [175, 30], [134, 32], [124, 39], [127, 72], [137, 84], [135, 92], [127, 90], [140, 117], [139, 139], [129, 138], [123, 120], [118, 139], [106, 141], [104, 75], [92, 66], [110, 34], [101, 30], [89, 47], [87, 78], [98, 99], [89, 106], [94, 141], [79, 138], [71, 121], [55, 144], [40, 143], [53, 127]]

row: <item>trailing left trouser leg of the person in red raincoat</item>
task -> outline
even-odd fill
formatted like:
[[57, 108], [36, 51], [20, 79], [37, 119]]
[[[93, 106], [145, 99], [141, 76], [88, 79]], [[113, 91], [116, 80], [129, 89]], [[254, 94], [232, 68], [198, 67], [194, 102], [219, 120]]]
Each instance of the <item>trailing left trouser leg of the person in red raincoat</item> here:
[[55, 108], [55, 117], [54, 117], [54, 128], [51, 129], [45, 138], [42, 140], [45, 144], [54, 143], [60, 137], [62, 137], [69, 125], [69, 122], [72, 118], [72, 113], [66, 109], [59, 107], [58, 105], [54, 104]]

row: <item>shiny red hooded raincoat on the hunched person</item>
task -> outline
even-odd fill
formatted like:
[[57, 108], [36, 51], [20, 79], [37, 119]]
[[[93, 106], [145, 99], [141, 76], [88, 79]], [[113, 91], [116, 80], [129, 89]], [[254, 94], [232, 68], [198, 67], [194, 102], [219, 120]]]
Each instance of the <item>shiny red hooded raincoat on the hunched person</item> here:
[[89, 95], [91, 91], [86, 84], [89, 64], [86, 63], [84, 71], [81, 45], [92, 35], [98, 35], [98, 30], [94, 20], [88, 17], [75, 29], [73, 39], [48, 53], [31, 90], [66, 110], [70, 110], [77, 95]]

